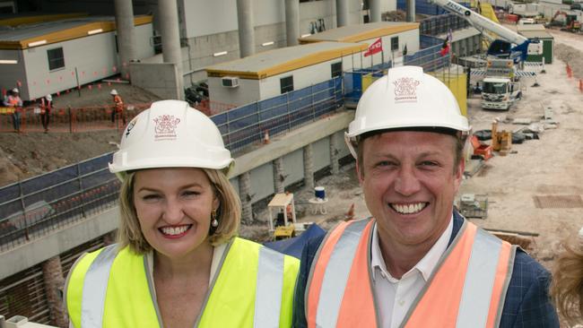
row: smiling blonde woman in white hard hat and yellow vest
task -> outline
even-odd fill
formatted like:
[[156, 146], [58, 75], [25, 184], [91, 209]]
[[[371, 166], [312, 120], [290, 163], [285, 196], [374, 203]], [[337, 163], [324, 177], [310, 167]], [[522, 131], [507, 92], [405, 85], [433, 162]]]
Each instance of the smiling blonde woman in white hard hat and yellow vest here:
[[69, 274], [74, 327], [291, 326], [299, 263], [234, 237], [232, 162], [186, 102], [154, 102], [127, 125], [109, 165], [123, 182], [118, 244]]

